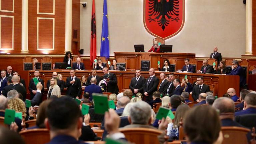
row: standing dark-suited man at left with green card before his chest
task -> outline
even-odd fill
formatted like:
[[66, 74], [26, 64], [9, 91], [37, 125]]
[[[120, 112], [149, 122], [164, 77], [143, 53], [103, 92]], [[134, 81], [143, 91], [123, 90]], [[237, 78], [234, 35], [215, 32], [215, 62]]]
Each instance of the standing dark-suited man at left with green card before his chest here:
[[[38, 82], [41, 82], [41, 84], [43, 85], [43, 88], [42, 88], [42, 93], [43, 93], [43, 91], [44, 91], [44, 81], [43, 81], [41, 78], [39, 78], [39, 75], [40, 75], [39, 71], [38, 71], [38, 70], [35, 70], [34, 76], [35, 76], [35, 78], [38, 79]], [[34, 82], [33, 79], [31, 79], [31, 80], [29, 81], [28, 89], [29, 89], [29, 91], [30, 91], [30, 99], [33, 99], [33, 97], [34, 97], [35, 94], [36, 94], [36, 90], [37, 90], [36, 85], [35, 85], [35, 82]]]

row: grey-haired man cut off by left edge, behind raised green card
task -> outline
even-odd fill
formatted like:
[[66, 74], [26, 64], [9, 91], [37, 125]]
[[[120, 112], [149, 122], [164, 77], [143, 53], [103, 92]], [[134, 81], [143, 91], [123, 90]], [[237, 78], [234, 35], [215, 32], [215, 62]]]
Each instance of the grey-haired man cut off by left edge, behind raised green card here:
[[[5, 96], [0, 95], [0, 110], [5, 110], [7, 108], [8, 108], [8, 99]], [[4, 111], [0, 111], [0, 116], [4, 117], [4, 115], [5, 115], [5, 112]], [[22, 129], [21, 119], [15, 118], [14, 122], [18, 126], [18, 131], [20, 131]]]

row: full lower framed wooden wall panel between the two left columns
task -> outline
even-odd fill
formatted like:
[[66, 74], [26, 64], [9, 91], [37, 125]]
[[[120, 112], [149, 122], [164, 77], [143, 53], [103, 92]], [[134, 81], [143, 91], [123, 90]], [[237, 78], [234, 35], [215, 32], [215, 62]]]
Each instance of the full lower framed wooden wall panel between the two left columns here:
[[54, 19], [38, 18], [38, 49], [54, 49]]

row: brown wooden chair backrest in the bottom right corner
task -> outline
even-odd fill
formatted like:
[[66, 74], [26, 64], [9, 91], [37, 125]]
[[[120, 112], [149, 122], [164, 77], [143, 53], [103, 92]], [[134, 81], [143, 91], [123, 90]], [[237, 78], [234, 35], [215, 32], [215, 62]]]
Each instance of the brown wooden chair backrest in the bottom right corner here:
[[246, 134], [250, 129], [243, 127], [221, 127], [223, 133], [223, 144], [246, 144]]

